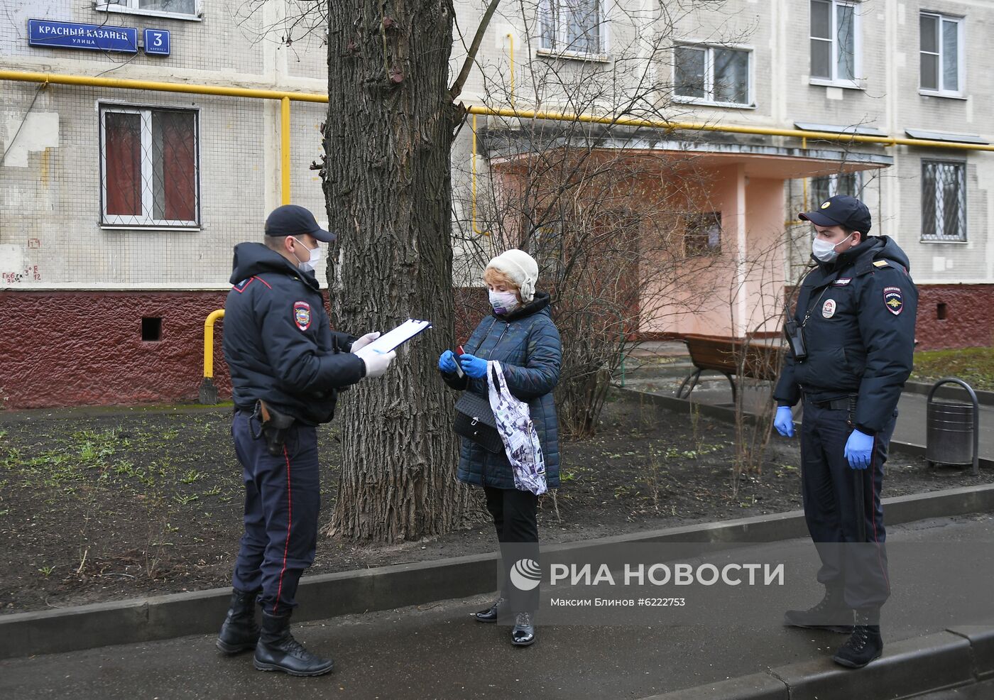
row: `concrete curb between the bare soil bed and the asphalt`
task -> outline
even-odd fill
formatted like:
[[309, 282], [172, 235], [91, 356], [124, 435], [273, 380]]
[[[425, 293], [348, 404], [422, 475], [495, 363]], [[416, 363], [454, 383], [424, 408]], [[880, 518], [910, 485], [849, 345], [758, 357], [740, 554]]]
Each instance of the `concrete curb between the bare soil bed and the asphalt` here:
[[[886, 498], [884, 503], [892, 525], [994, 510], [994, 484]], [[586, 548], [620, 543], [761, 543], [806, 535], [804, 514], [795, 510], [570, 542], [548, 550], [580, 556]], [[297, 595], [303, 605], [295, 619], [324, 619], [490, 593], [496, 587], [497, 556], [487, 553], [305, 576]], [[213, 632], [230, 596], [231, 589], [225, 588], [0, 615], [0, 659]], [[994, 645], [994, 638], [984, 643]], [[994, 661], [985, 671], [994, 673]]]

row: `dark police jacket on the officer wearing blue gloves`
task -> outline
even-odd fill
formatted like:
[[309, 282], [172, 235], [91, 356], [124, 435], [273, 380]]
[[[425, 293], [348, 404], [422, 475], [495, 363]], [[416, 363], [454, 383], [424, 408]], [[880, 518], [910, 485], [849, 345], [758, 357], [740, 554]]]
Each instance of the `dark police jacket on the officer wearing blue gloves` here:
[[802, 393], [816, 402], [858, 394], [856, 427], [884, 429], [911, 374], [918, 292], [908, 269], [894, 241], [871, 236], [808, 272], [793, 316], [808, 356], [788, 356], [773, 392], [780, 406]]

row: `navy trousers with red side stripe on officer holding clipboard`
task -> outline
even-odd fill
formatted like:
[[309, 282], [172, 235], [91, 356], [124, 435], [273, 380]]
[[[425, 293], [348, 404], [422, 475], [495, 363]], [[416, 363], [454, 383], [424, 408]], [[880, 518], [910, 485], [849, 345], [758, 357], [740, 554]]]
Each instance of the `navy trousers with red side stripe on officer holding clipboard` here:
[[246, 485], [245, 534], [233, 584], [261, 590], [259, 605], [270, 614], [288, 614], [296, 601], [300, 575], [314, 562], [320, 476], [317, 430], [294, 424], [283, 453], [269, 454], [259, 425], [238, 411], [232, 425], [235, 450]]

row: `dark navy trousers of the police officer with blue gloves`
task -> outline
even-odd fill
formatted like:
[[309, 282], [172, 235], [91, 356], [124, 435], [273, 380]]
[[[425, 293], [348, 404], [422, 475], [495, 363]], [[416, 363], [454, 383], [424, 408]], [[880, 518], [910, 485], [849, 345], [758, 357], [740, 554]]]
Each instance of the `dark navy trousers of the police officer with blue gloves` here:
[[[849, 412], [805, 400], [801, 424], [804, 519], [821, 559], [818, 581], [841, 590], [848, 608], [879, 609], [891, 593], [881, 488], [895, 418], [877, 434], [871, 464], [852, 469], [845, 457]], [[857, 479], [863, 485], [865, 540], [860, 541]]]

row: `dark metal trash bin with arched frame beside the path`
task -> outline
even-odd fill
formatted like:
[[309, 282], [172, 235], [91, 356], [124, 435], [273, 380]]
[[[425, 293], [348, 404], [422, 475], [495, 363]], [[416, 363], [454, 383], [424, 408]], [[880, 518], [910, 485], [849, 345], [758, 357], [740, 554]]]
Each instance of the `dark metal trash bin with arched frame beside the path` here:
[[[932, 401], [943, 384], [958, 384], [970, 395], [970, 404]], [[925, 403], [925, 460], [934, 464], [973, 464], [980, 473], [980, 406], [973, 388], [961, 379], [946, 377], [932, 385]]]

